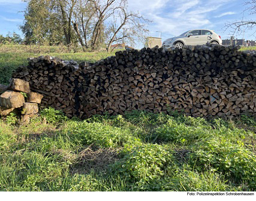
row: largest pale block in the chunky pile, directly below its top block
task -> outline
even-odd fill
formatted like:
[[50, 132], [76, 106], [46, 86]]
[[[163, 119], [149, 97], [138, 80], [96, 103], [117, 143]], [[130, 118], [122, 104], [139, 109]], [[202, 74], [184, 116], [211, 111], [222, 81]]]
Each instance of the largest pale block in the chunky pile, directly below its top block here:
[[25, 103], [25, 98], [20, 92], [5, 91], [0, 95], [0, 106], [2, 108], [19, 108]]

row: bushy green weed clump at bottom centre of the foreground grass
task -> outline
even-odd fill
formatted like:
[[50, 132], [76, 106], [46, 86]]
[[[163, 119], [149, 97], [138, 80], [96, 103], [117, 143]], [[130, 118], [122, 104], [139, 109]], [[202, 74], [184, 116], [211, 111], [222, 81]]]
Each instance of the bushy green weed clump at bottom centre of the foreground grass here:
[[122, 154], [123, 158], [111, 166], [111, 171], [125, 178], [132, 190], [152, 190], [145, 185], [170, 176], [170, 172], [174, 172], [170, 169], [175, 169], [172, 151], [158, 144], [127, 146]]

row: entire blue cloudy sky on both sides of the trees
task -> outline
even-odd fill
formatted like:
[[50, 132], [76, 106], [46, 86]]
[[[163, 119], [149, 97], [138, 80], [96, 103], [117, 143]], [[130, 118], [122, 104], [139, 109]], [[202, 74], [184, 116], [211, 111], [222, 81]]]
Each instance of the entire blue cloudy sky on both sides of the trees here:
[[[231, 30], [225, 24], [239, 20], [252, 20], [244, 5], [245, 0], [128, 0], [129, 9], [152, 20], [147, 26], [148, 36], [167, 38], [180, 35], [190, 29], [211, 29], [230, 38]], [[26, 8], [22, 0], [0, 0], [0, 34], [16, 32], [22, 35], [22, 11]], [[255, 40], [253, 31], [247, 30], [236, 38]]]

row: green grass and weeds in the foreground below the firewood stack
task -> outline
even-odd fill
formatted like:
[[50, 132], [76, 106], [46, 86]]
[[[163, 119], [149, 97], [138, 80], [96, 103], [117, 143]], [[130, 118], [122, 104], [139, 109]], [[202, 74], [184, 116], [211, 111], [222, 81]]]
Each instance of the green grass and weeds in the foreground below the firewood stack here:
[[[0, 120], [1, 191], [255, 191], [255, 119], [133, 111]], [[250, 128], [242, 129], [244, 128]]]

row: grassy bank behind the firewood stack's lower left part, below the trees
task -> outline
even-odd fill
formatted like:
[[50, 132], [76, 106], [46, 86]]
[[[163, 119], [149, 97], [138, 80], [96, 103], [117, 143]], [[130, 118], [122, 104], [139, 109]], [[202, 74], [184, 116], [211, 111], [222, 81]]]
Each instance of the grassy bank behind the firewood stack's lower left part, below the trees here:
[[0, 46], [0, 84], [8, 84], [12, 72], [18, 66], [26, 66], [29, 57], [50, 55], [63, 60], [95, 62], [114, 55], [114, 52], [107, 53], [106, 51], [82, 52], [79, 49], [77, 51], [68, 52], [65, 46], [2, 45]]

